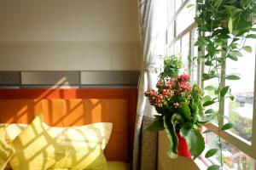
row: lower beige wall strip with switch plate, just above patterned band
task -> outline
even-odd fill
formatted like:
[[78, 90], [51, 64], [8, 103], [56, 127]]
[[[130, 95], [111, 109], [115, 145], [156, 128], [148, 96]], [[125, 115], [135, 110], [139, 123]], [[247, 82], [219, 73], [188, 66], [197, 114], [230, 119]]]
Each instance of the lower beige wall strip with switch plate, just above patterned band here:
[[[137, 43], [0, 43], [0, 71], [138, 70]], [[113, 57], [118, 57], [113, 65]]]

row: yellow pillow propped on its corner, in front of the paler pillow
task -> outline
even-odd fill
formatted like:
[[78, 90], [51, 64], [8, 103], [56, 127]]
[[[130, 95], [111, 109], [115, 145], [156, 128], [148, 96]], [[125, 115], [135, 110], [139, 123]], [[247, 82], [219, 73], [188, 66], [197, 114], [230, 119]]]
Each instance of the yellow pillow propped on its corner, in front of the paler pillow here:
[[45, 131], [40, 114], [15, 138], [10, 145], [15, 155], [10, 159], [13, 170], [43, 170], [65, 156], [59, 144]]

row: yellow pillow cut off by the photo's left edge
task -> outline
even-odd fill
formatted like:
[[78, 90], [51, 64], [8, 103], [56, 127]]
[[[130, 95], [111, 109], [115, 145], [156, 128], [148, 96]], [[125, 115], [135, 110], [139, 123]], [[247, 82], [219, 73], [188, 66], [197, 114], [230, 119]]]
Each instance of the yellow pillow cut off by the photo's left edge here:
[[4, 127], [0, 127], [0, 170], [6, 167], [10, 157], [15, 153], [15, 150], [6, 144], [4, 137]]

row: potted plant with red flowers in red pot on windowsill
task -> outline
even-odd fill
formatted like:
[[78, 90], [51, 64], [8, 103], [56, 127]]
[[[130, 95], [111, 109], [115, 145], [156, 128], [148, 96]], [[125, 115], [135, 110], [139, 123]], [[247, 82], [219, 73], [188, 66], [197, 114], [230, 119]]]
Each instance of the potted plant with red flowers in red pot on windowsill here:
[[145, 92], [150, 105], [158, 113], [154, 115], [155, 121], [148, 130], [166, 130], [170, 140], [170, 148], [167, 150], [169, 157], [190, 157], [191, 154], [195, 159], [205, 149], [200, 127], [210, 121], [212, 116], [206, 116], [203, 112], [201, 88], [197, 84], [190, 84], [189, 75], [178, 75], [181, 63], [176, 56], [166, 58], [164, 70], [160, 72], [156, 84], [157, 89]]

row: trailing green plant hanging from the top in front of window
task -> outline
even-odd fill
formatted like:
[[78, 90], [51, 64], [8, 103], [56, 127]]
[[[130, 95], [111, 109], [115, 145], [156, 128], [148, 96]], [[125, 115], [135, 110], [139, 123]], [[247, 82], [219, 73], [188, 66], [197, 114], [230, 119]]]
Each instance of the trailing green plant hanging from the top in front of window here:
[[[195, 22], [198, 25], [199, 37], [196, 42], [200, 59], [204, 65], [208, 66], [207, 72], [202, 74], [203, 81], [212, 78], [218, 79], [218, 86], [208, 86], [205, 89], [214, 91], [213, 98], [209, 98], [203, 105], [208, 106], [222, 102], [225, 98], [234, 99], [229, 94], [230, 87], [224, 86], [225, 80], [238, 80], [236, 75], [226, 75], [225, 65], [227, 59], [238, 60], [242, 57], [241, 50], [252, 52], [250, 46], [245, 46], [247, 38], [256, 38], [251, 33], [256, 31], [253, 28], [256, 16], [255, 0], [197, 0], [197, 15]], [[222, 111], [206, 112], [218, 113], [218, 124]], [[218, 126], [218, 133], [230, 129], [232, 124], [226, 123], [223, 127]], [[214, 130], [208, 130], [207, 133]], [[219, 136], [220, 141], [220, 136]], [[209, 150], [207, 153], [212, 152]], [[222, 153], [222, 144], [220, 144], [220, 153]], [[214, 154], [213, 154], [214, 155]], [[213, 156], [212, 155], [212, 156]], [[220, 154], [222, 156], [222, 154]], [[221, 165], [212, 165], [208, 169], [214, 170], [223, 168], [224, 162], [220, 158]]]

